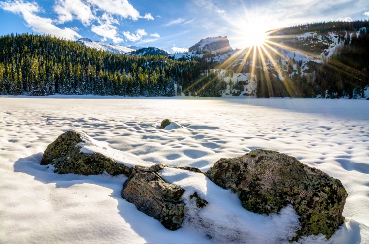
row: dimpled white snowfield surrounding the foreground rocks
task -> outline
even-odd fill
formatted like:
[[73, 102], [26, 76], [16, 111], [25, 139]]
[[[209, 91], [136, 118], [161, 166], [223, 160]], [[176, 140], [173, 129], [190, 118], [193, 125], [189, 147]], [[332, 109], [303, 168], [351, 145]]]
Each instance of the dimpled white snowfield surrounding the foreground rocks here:
[[[286, 207], [280, 215], [246, 211], [238, 198], [203, 175], [162, 171], [209, 202], [191, 208], [170, 231], [123, 200], [125, 176], [58, 175], [41, 166], [47, 145], [63, 132], [87, 132], [122, 162], [191, 165], [252, 149], [277, 150], [342, 181], [348, 192], [344, 224], [326, 240], [369, 243], [369, 102], [323, 99], [105, 99], [0, 97], [0, 243], [288, 243], [298, 228]], [[158, 130], [169, 118], [169, 128]], [[119, 151], [117, 151], [119, 150]], [[202, 219], [199, 225], [198, 220]], [[195, 228], [196, 226], [196, 228]]]

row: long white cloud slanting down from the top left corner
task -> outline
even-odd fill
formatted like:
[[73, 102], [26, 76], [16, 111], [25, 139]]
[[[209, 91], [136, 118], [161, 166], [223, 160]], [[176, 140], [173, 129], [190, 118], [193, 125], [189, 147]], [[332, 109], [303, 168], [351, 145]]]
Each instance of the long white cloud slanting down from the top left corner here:
[[59, 28], [52, 24], [52, 19], [35, 15], [35, 13], [39, 13], [42, 10], [36, 2], [23, 2], [23, 0], [5, 1], [0, 2], [0, 7], [6, 11], [21, 15], [26, 21], [26, 26], [31, 27], [34, 32], [70, 40], [81, 37], [71, 28]]

